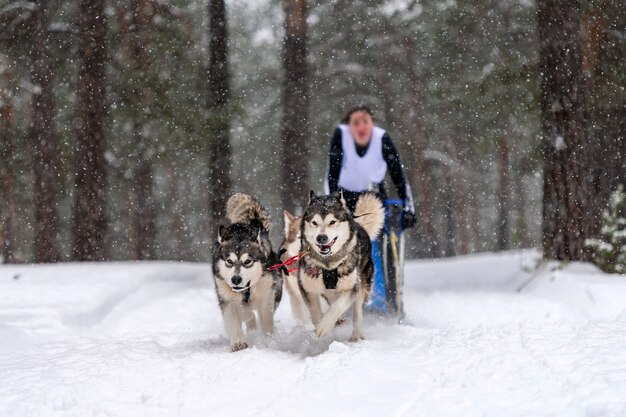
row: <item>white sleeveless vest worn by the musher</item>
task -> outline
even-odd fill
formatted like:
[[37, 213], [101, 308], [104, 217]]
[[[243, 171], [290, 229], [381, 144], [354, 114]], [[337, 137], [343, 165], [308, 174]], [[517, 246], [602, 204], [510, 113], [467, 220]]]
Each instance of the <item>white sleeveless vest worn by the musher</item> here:
[[362, 157], [356, 152], [356, 144], [350, 127], [339, 125], [343, 159], [339, 173], [339, 187], [348, 191], [367, 191], [372, 183], [379, 184], [387, 174], [387, 162], [383, 158], [383, 135], [385, 130], [374, 126], [367, 152]]

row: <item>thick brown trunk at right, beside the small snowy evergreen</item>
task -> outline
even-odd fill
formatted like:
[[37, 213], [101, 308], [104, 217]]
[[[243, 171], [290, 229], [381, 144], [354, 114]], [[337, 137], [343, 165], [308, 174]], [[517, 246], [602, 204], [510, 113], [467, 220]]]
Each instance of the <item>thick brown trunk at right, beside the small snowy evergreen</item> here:
[[544, 151], [543, 253], [585, 260], [590, 181], [585, 151], [579, 4], [538, 2], [541, 117]]

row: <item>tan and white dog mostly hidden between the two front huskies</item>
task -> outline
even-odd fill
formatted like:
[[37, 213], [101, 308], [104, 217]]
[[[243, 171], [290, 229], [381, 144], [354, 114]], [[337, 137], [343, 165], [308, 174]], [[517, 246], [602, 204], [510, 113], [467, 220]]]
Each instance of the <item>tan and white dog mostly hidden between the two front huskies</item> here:
[[[300, 249], [302, 247], [300, 238], [302, 217], [296, 217], [288, 211], [285, 211], [284, 215], [285, 239], [280, 246], [281, 262], [285, 262], [287, 259], [296, 256], [300, 253]], [[302, 324], [310, 323], [311, 317], [309, 316], [309, 310], [304, 304], [302, 293], [300, 292], [300, 288], [298, 286], [297, 272], [292, 272], [285, 276], [285, 288], [289, 293], [289, 301], [291, 303], [293, 316]]]

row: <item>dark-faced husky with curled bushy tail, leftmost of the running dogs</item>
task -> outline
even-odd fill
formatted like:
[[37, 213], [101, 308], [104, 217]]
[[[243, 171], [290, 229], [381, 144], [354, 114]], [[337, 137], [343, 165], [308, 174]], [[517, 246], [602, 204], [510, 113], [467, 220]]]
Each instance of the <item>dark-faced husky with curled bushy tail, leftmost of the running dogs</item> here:
[[256, 329], [256, 311], [263, 333], [274, 330], [274, 311], [282, 296], [280, 271], [267, 268], [278, 259], [272, 251], [267, 211], [249, 195], [235, 194], [226, 204], [231, 224], [220, 226], [213, 250], [215, 290], [233, 352], [248, 347], [243, 334]]

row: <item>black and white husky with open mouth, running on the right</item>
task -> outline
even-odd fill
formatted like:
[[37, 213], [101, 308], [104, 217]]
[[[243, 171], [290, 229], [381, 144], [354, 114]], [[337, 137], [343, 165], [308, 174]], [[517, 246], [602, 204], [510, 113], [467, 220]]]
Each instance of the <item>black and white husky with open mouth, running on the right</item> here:
[[[343, 195], [316, 196], [311, 191], [301, 225], [302, 247], [298, 284], [315, 325], [315, 334], [328, 334], [352, 307], [351, 341], [363, 339], [363, 305], [372, 288], [372, 239], [382, 229], [385, 212], [373, 194], [363, 194], [354, 214]], [[328, 300], [322, 316], [320, 297]]]

